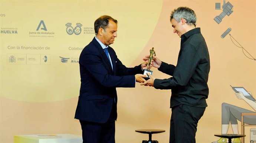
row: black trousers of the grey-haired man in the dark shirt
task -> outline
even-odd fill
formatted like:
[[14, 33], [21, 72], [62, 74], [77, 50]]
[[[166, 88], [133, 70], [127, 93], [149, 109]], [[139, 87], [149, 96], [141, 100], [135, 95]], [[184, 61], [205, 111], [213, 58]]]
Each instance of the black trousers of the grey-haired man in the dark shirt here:
[[196, 143], [197, 123], [205, 108], [178, 105], [171, 111], [170, 143]]

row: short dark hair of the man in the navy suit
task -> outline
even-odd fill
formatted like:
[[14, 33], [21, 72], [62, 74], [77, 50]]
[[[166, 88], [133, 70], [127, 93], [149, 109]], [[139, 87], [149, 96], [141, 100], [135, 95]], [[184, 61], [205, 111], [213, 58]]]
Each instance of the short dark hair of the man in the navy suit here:
[[99, 28], [103, 28], [105, 31], [105, 28], [108, 27], [109, 20], [112, 20], [117, 24], [117, 20], [115, 20], [114, 18], [112, 18], [111, 16], [108, 16], [108, 15], [102, 15], [101, 17], [96, 19], [94, 22], [95, 34], [98, 34]]

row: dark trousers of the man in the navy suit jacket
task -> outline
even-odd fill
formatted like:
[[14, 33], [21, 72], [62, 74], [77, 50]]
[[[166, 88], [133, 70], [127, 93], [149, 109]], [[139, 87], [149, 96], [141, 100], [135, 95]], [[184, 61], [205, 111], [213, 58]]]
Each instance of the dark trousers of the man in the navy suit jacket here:
[[116, 104], [106, 123], [80, 121], [83, 143], [115, 143]]

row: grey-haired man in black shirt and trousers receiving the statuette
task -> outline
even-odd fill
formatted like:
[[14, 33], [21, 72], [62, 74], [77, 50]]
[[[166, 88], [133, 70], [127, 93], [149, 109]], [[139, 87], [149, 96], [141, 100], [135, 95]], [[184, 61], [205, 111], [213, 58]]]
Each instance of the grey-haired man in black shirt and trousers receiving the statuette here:
[[[196, 14], [188, 7], [175, 9], [170, 16], [173, 32], [181, 38], [177, 65], [153, 57], [152, 66], [172, 77], [150, 79], [142, 83], [156, 89], [171, 89], [170, 143], [196, 143], [197, 123], [207, 107], [210, 59]], [[144, 57], [148, 60], [148, 56]]]

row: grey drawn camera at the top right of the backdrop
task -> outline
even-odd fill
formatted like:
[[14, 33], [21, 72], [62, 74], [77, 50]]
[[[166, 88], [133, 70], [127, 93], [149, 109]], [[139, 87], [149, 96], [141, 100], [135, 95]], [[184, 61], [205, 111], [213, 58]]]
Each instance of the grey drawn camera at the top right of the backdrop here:
[[[220, 10], [220, 3], [215, 3], [215, 9], [219, 9]], [[225, 0], [224, 0], [224, 4], [222, 6], [222, 13], [219, 15], [219, 16], [216, 16], [214, 18], [214, 20], [220, 24], [220, 22], [222, 21], [222, 19], [227, 15], [229, 16], [230, 14], [233, 13], [232, 9], [233, 9], [233, 6], [231, 3], [227, 2], [225, 3]]]

